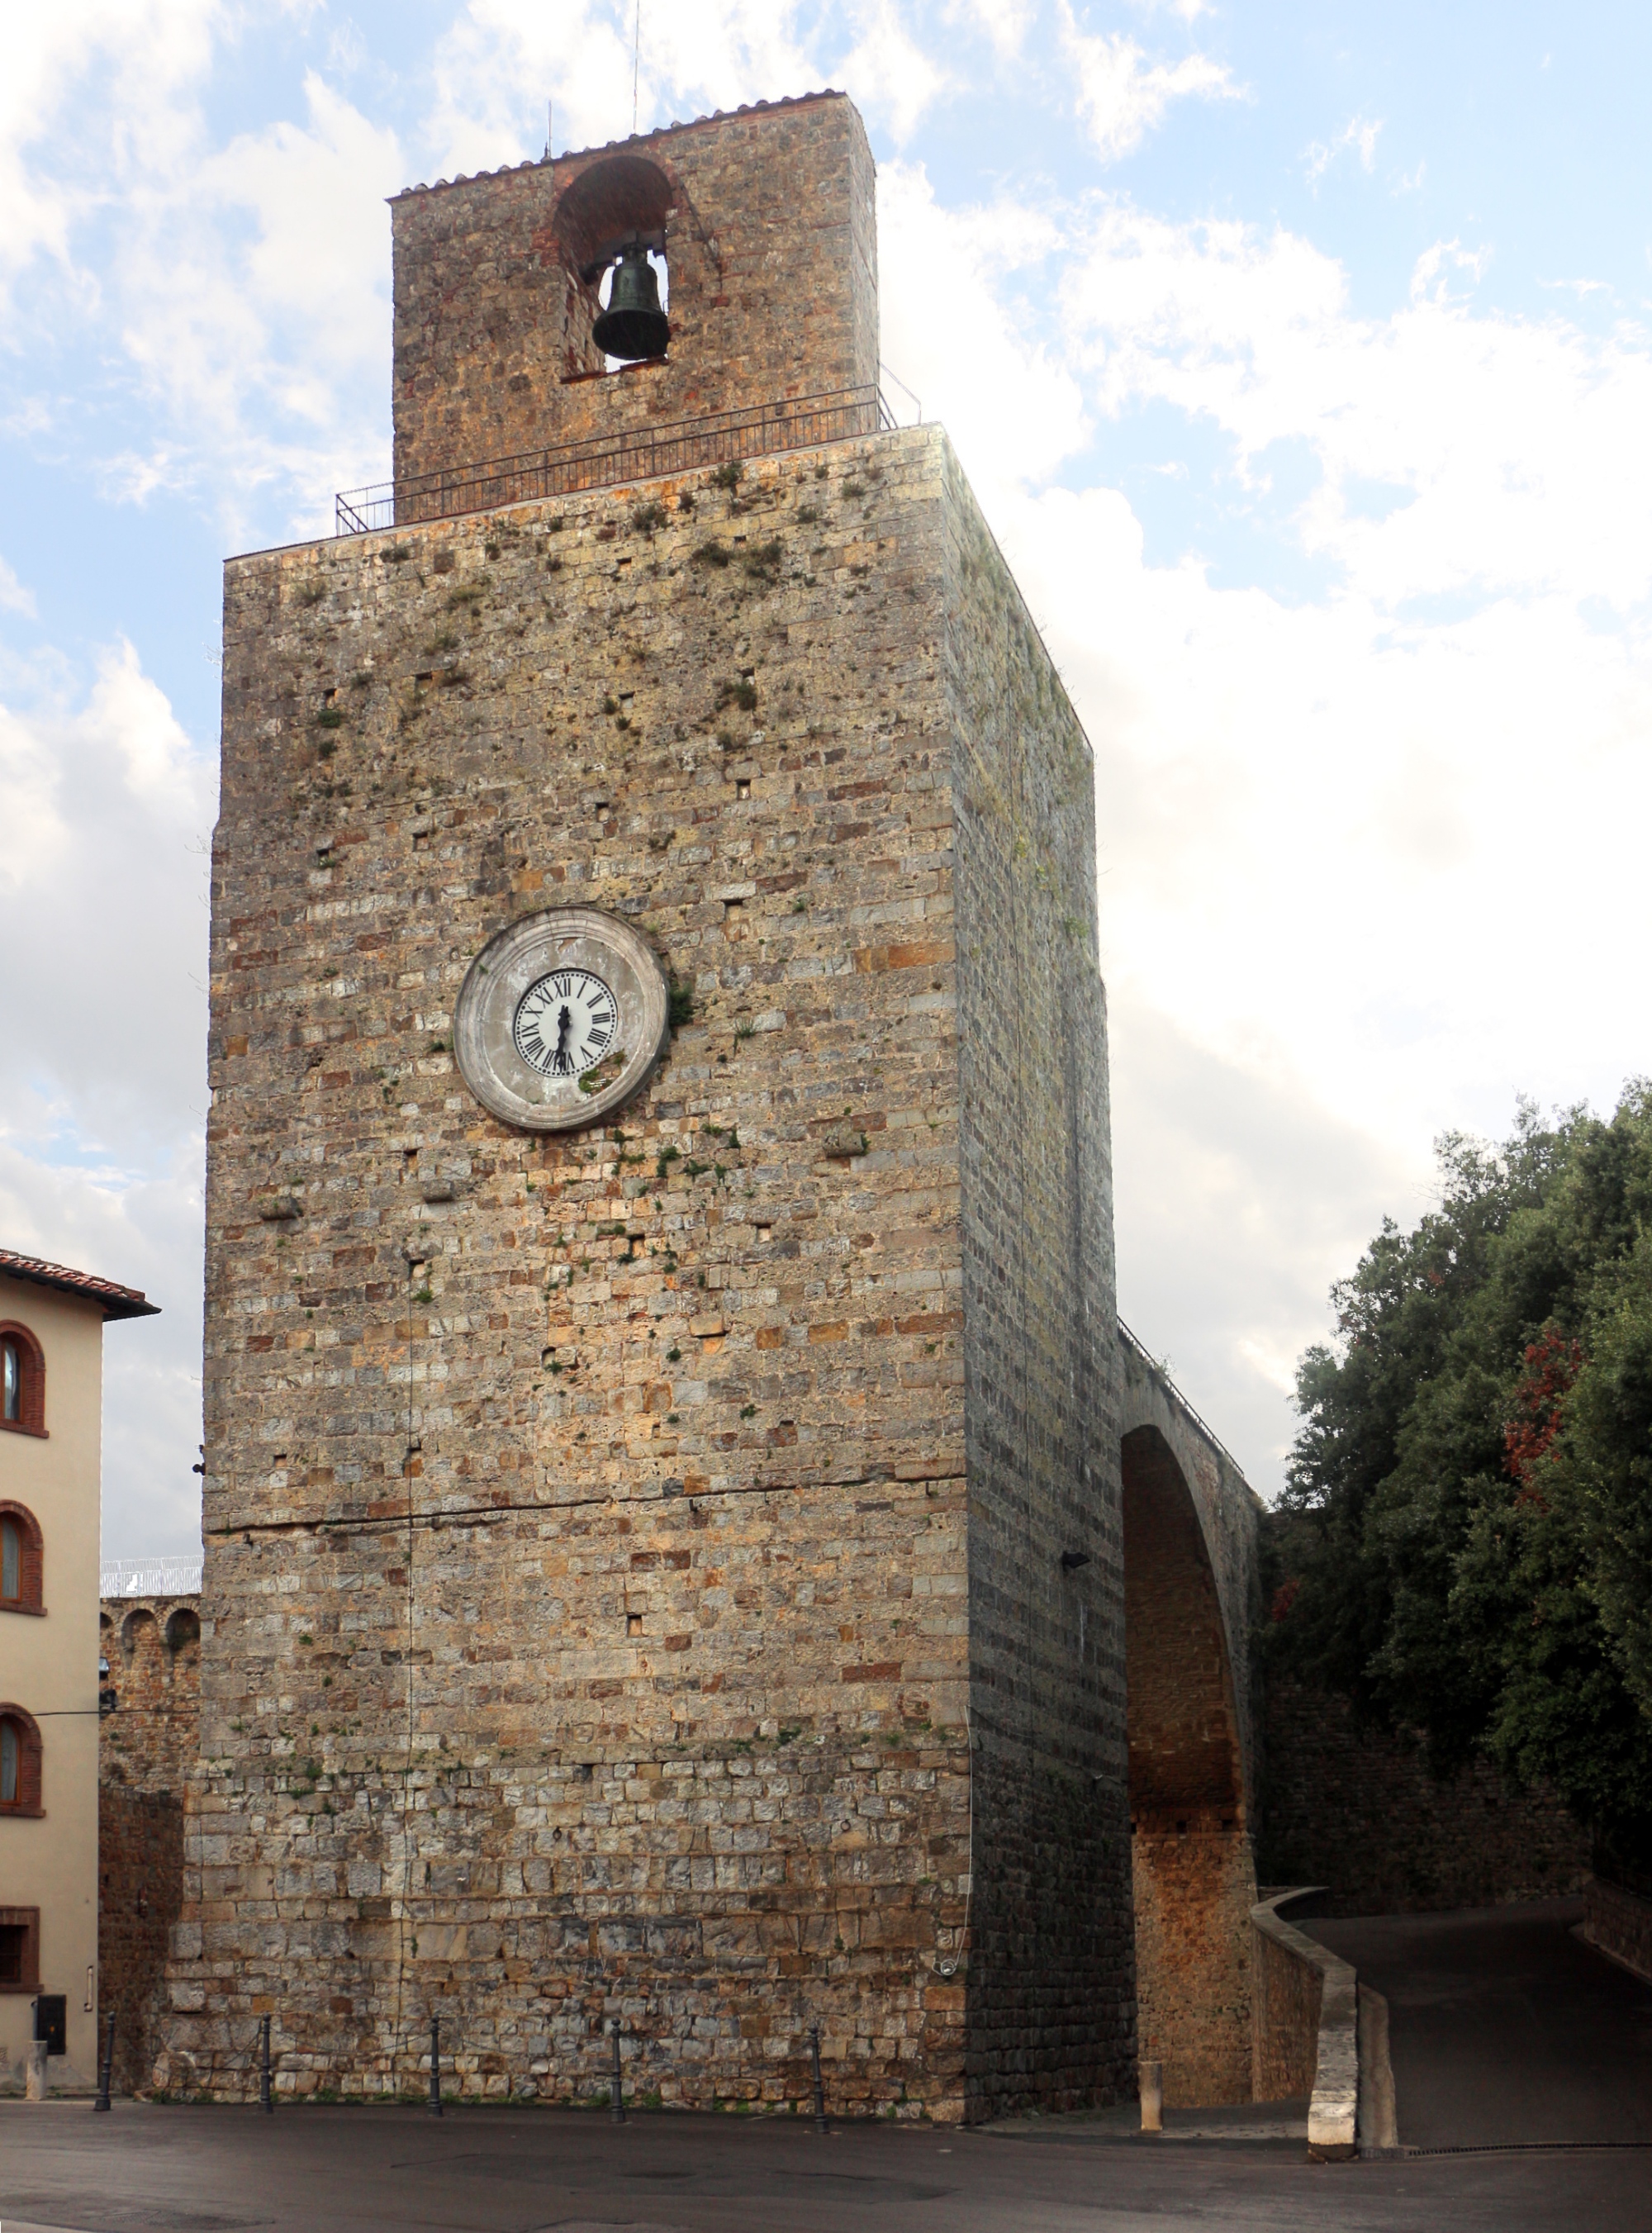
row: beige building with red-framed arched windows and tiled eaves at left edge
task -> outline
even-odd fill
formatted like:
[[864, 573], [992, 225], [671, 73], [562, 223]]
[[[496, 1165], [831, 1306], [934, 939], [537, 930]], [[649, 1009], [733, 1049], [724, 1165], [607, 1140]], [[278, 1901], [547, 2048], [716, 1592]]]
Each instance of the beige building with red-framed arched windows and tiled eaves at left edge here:
[[0, 2086], [96, 2072], [103, 1324], [129, 1286], [0, 1248]]

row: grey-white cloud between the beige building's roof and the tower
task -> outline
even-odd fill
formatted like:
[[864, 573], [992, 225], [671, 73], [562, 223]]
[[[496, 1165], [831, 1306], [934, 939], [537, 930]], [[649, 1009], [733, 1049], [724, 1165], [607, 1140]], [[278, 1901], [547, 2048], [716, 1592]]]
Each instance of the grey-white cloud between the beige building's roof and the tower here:
[[63, 668], [0, 703], [0, 1235], [161, 1304], [105, 1340], [105, 1518], [116, 1550], [188, 1550], [214, 770], [129, 643], [83, 703]]

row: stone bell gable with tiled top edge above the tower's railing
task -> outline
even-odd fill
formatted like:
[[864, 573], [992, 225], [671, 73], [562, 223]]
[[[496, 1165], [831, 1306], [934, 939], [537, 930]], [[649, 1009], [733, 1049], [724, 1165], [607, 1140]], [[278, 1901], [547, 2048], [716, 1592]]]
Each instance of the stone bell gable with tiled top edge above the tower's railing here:
[[397, 194], [397, 482], [875, 389], [873, 183], [855, 105], [806, 94]]

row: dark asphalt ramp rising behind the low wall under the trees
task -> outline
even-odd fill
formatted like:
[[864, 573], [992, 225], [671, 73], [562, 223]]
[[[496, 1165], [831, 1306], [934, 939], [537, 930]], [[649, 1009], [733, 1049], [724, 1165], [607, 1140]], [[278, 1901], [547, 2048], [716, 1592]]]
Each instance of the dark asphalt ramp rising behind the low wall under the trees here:
[[1652, 1985], [1574, 1938], [1581, 1920], [1583, 1900], [1531, 1900], [1299, 1925], [1389, 2001], [1402, 2146], [1652, 2146]]

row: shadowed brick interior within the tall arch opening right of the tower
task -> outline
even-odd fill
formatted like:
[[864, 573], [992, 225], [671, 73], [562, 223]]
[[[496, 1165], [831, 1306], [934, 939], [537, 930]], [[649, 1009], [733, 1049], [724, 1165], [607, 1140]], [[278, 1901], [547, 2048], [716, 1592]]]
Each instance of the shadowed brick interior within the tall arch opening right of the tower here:
[[1121, 1443], [1141, 2054], [1165, 2101], [1250, 2099], [1250, 1907], [1239, 1724], [1210, 1554], [1156, 1427]]

